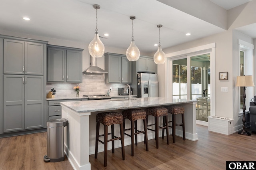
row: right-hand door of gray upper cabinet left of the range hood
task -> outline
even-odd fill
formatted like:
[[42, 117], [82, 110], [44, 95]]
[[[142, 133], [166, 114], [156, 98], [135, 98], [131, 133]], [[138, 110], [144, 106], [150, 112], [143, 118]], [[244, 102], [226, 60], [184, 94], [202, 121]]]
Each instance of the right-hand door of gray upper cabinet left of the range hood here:
[[82, 82], [82, 51], [67, 49], [67, 82]]

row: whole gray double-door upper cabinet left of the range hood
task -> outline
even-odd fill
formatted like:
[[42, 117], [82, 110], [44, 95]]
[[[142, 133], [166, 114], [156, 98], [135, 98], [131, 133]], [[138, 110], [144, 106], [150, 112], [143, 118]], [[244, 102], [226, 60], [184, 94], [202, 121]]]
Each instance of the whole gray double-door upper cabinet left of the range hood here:
[[82, 82], [83, 49], [47, 45], [47, 81]]

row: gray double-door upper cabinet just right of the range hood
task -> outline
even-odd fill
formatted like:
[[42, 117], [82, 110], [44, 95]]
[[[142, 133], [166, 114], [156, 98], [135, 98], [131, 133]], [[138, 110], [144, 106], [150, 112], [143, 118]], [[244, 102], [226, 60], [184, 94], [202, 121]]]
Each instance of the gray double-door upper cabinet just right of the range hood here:
[[132, 62], [126, 55], [105, 53], [105, 83], [132, 83]]

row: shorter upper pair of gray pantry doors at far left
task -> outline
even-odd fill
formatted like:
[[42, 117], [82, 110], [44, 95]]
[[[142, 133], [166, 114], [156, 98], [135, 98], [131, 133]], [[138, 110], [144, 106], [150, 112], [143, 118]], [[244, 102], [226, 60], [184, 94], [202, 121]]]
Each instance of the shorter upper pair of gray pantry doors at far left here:
[[4, 74], [44, 75], [44, 44], [4, 39]]

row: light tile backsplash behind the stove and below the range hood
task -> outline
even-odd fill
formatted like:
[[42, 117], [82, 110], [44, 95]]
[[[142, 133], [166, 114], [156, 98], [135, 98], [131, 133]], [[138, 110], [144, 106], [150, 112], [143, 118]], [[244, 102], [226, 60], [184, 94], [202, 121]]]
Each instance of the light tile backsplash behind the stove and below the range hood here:
[[76, 91], [73, 87], [80, 86], [80, 96], [88, 94], [106, 94], [109, 87], [112, 87], [110, 96], [117, 96], [118, 87], [125, 86], [125, 84], [118, 83], [105, 84], [105, 74], [83, 74], [82, 78], [82, 83], [46, 83], [46, 94], [51, 88], [54, 88], [57, 91], [55, 97], [76, 97]]

